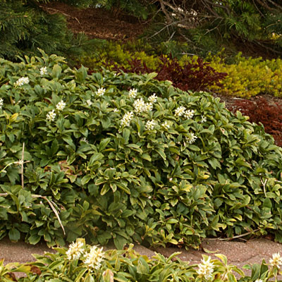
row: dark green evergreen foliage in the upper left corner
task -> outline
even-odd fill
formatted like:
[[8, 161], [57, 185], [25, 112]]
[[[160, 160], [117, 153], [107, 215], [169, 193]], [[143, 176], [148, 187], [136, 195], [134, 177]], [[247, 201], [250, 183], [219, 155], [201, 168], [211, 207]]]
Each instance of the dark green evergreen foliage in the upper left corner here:
[[37, 48], [70, 57], [94, 44], [83, 34], [75, 38], [63, 16], [45, 13], [34, 1], [1, 1], [0, 11], [2, 58], [39, 54]]

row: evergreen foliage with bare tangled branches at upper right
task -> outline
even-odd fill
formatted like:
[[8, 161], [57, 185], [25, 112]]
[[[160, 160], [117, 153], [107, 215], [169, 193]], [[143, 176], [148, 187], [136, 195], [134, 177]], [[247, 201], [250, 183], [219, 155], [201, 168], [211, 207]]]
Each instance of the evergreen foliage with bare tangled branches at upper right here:
[[164, 18], [156, 17], [157, 23], [152, 24], [147, 34], [149, 40], [185, 41], [187, 51], [200, 56], [216, 54], [223, 46], [248, 56], [255, 56], [256, 51], [264, 56], [282, 54], [281, 1], [156, 2]]

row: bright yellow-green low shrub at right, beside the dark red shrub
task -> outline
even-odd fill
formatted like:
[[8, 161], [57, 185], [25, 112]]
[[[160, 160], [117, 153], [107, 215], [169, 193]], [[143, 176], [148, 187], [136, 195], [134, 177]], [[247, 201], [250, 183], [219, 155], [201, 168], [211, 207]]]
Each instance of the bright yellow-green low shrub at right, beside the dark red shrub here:
[[213, 85], [210, 90], [237, 97], [252, 97], [257, 94], [271, 94], [281, 97], [282, 61], [281, 59], [246, 59], [240, 54], [236, 63], [227, 64], [219, 56], [209, 58], [210, 66], [218, 72], [228, 73], [222, 80], [222, 87]]

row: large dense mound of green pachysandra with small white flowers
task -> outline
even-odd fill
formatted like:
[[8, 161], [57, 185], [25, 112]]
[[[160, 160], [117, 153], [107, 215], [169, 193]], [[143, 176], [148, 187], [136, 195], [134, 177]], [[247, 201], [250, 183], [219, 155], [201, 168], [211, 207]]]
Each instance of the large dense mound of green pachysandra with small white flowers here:
[[0, 63], [0, 238], [282, 241], [282, 149], [240, 112], [156, 73], [87, 75], [44, 53]]

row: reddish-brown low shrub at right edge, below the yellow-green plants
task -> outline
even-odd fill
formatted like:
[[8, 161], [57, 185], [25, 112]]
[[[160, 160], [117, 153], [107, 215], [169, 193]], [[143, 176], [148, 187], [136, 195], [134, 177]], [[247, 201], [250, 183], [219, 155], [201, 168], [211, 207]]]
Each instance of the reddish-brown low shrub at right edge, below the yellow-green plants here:
[[250, 117], [250, 122], [262, 123], [266, 133], [271, 134], [276, 145], [282, 147], [282, 109], [276, 102], [267, 102], [264, 97], [257, 99], [236, 100], [234, 106], [228, 107], [231, 111], [240, 111], [244, 116]]

